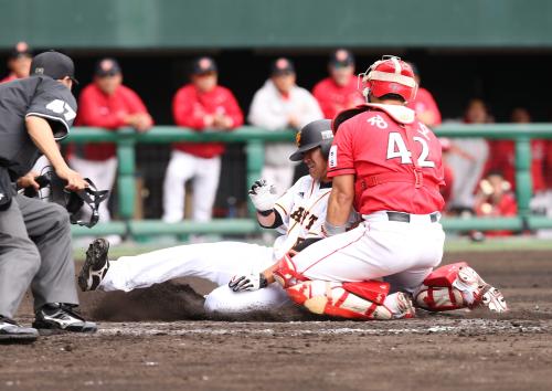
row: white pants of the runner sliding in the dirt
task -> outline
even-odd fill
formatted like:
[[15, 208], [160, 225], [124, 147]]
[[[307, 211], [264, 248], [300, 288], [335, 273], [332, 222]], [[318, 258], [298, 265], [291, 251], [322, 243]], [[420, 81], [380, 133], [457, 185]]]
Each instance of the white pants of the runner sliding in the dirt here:
[[234, 293], [227, 283], [234, 275], [261, 273], [274, 264], [274, 249], [240, 242], [200, 243], [163, 249], [110, 262], [98, 289], [144, 288], [172, 278], [206, 278], [220, 287], [205, 297], [205, 310], [241, 313], [267, 310], [289, 303], [278, 284], [255, 292]]

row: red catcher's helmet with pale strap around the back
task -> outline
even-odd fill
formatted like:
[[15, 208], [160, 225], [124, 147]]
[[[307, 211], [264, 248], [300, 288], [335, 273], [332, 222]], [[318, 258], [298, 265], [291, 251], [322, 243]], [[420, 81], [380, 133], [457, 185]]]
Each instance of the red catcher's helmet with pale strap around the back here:
[[384, 55], [359, 77], [362, 77], [364, 97], [396, 94], [405, 102], [416, 97], [417, 84], [412, 66], [394, 55]]

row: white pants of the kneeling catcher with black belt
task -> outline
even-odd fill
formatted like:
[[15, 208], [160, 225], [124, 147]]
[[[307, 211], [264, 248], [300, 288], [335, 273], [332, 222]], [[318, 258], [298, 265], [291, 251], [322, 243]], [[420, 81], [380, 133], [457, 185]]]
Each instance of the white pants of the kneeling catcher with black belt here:
[[317, 242], [293, 258], [309, 279], [360, 282], [384, 277], [391, 292], [413, 293], [440, 263], [445, 233], [428, 214], [389, 221], [385, 212], [364, 216], [358, 228]]

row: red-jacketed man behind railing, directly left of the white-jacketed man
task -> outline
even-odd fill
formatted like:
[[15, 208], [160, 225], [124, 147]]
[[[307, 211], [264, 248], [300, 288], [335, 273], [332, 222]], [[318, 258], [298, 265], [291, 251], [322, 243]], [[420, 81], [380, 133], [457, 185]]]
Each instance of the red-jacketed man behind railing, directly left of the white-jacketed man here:
[[[213, 59], [193, 62], [191, 83], [182, 86], [172, 101], [178, 126], [195, 131], [231, 131], [243, 125], [242, 109], [232, 92], [219, 85]], [[222, 142], [174, 142], [163, 182], [163, 221], [176, 223], [184, 218], [184, 183], [193, 183], [195, 221], [211, 220], [221, 173]]]

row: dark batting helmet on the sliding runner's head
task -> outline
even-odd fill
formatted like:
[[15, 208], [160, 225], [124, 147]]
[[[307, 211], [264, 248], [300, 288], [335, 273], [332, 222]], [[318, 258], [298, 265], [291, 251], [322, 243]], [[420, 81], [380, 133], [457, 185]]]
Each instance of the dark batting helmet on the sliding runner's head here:
[[305, 152], [320, 147], [325, 158], [328, 158], [331, 141], [333, 141], [333, 131], [331, 131], [331, 120], [317, 119], [305, 125], [295, 137], [297, 150], [289, 157], [291, 161], [302, 160]]

